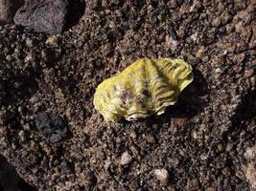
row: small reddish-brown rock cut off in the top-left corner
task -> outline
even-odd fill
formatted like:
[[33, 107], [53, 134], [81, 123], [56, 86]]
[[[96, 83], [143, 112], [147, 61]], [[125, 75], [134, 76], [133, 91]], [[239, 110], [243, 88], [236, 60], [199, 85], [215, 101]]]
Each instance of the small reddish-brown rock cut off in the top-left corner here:
[[0, 0], [0, 25], [11, 23], [15, 12], [24, 4], [24, 0]]

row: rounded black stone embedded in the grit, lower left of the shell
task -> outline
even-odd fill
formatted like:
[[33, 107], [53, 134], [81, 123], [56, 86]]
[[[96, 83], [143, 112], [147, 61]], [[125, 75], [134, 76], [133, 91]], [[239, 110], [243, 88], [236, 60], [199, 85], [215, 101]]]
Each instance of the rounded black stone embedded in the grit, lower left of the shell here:
[[40, 113], [35, 117], [35, 126], [52, 143], [67, 137], [67, 124], [57, 115]]

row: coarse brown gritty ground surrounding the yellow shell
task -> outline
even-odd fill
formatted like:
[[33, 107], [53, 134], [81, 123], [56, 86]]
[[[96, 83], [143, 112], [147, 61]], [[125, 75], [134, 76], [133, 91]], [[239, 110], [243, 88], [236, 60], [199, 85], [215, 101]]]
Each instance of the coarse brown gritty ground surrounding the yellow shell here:
[[[0, 153], [38, 190], [253, 190], [255, 16], [254, 0], [92, 0], [57, 45], [0, 27]], [[97, 85], [145, 56], [186, 60], [194, 82], [159, 117], [105, 122]], [[63, 117], [68, 137], [44, 138], [40, 112]]]

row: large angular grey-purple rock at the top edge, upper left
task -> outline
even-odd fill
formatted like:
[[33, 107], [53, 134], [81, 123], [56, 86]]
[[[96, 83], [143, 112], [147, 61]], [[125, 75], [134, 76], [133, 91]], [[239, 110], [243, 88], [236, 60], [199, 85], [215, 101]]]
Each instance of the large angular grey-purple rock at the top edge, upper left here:
[[66, 24], [68, 0], [28, 0], [15, 16], [16, 25], [35, 32], [61, 33]]

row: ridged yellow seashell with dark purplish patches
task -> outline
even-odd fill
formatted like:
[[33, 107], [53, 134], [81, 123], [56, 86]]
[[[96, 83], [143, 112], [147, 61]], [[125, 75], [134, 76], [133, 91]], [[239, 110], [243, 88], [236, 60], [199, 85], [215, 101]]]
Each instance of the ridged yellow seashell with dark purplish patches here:
[[97, 87], [93, 103], [107, 121], [161, 115], [192, 81], [192, 67], [181, 59], [142, 58], [105, 79]]

